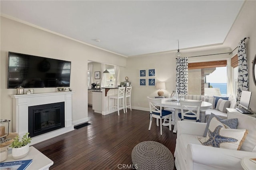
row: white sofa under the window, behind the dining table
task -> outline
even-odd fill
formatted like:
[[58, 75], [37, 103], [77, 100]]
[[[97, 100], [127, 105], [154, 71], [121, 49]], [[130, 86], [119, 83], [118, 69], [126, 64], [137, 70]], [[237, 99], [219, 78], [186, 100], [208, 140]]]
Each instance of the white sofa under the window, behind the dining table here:
[[[213, 98], [214, 96], [207, 96], [207, 95], [185, 95], [185, 99], [191, 99], [191, 100], [202, 100], [204, 101], [205, 98]], [[228, 97], [228, 100], [230, 101], [230, 106], [228, 108], [234, 109], [236, 107], [236, 99], [232, 97]], [[207, 122], [208, 117], [211, 115], [211, 113], [214, 113], [218, 117], [221, 117], [223, 119], [226, 119], [228, 117], [227, 113], [224, 113], [222, 111], [216, 110], [215, 107], [213, 109], [207, 109], [201, 111], [201, 122]]]

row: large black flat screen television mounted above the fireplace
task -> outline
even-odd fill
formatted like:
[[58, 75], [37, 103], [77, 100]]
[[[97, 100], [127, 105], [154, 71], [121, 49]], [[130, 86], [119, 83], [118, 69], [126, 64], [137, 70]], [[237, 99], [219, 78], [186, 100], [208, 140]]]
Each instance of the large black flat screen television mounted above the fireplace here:
[[69, 87], [71, 61], [9, 52], [8, 89]]

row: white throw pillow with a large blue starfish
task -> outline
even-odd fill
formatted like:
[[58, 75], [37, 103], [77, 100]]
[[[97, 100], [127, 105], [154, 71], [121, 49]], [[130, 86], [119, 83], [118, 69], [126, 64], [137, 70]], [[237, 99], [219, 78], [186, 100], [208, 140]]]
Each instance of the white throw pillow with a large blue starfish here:
[[226, 128], [216, 117], [212, 118], [205, 138], [198, 139], [205, 146], [240, 150], [248, 131]]

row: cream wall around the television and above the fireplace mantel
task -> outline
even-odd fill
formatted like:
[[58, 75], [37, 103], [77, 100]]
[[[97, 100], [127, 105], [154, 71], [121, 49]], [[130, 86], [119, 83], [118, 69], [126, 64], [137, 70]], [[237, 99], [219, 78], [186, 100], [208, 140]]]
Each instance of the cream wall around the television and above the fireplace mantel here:
[[[88, 121], [87, 63], [88, 60], [126, 65], [126, 57], [106, 52], [62, 36], [58, 36], [8, 18], [1, 17], [0, 51], [0, 117], [9, 119], [12, 132], [12, 99], [16, 89], [7, 89], [8, 51], [71, 61], [70, 87], [72, 121]], [[25, 89], [26, 90], [26, 89]], [[34, 93], [55, 92], [56, 88], [35, 88]]]

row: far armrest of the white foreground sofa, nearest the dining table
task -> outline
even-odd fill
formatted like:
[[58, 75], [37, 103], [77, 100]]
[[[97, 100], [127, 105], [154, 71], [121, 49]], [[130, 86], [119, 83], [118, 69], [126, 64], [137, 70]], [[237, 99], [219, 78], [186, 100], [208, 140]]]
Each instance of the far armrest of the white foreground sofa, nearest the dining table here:
[[177, 137], [183, 133], [203, 136], [205, 128], [206, 128], [206, 123], [178, 121], [177, 122]]

